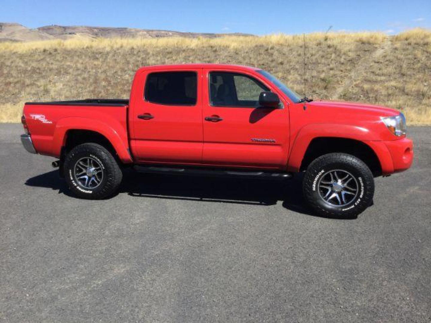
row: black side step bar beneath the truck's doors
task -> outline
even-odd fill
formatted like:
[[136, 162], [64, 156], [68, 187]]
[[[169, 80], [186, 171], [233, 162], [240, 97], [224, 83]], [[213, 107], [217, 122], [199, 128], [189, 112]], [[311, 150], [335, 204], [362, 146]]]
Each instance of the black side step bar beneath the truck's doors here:
[[194, 176], [241, 177], [250, 179], [288, 179], [292, 173], [275, 173], [271, 171], [234, 171], [217, 168], [170, 168], [160, 166], [134, 165], [133, 169], [147, 174], [183, 174]]

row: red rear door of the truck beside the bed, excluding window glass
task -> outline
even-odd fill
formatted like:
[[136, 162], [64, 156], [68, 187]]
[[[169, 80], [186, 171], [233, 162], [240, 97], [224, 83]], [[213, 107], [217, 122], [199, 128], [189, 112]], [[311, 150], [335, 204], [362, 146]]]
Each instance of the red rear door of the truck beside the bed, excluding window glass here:
[[[138, 162], [200, 163], [203, 147], [201, 69], [184, 69], [184, 72], [197, 74], [197, 99], [194, 106], [158, 104], [144, 99], [142, 89], [148, 75], [163, 71], [165, 70], [144, 71], [140, 76], [140, 84], [134, 87], [141, 89], [141, 93], [134, 93], [134, 101], [131, 105], [133, 109], [129, 124], [132, 126], [132, 153]], [[182, 70], [166, 71], [181, 72]], [[175, 93], [168, 91], [159, 99], [167, 99], [172, 95]]]

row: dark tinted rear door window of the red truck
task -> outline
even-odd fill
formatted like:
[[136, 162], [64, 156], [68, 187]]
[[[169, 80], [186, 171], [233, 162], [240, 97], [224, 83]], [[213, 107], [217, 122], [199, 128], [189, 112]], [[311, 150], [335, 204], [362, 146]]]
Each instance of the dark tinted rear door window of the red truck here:
[[145, 99], [172, 106], [194, 106], [197, 96], [195, 72], [151, 73], [145, 84]]

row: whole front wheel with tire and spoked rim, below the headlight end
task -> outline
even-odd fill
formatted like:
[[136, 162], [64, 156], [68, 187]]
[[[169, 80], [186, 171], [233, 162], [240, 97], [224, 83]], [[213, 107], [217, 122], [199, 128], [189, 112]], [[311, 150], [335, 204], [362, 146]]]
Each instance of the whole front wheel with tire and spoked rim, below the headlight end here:
[[368, 166], [353, 155], [326, 154], [307, 168], [303, 193], [317, 214], [352, 218], [372, 203], [374, 177]]

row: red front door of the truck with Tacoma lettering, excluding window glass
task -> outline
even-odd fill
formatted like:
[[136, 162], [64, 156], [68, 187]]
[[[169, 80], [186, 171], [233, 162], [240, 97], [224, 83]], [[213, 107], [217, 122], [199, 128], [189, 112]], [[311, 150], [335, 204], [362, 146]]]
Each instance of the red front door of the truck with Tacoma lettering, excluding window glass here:
[[[283, 102], [282, 109], [212, 106], [209, 99], [210, 71], [216, 70], [203, 70], [203, 163], [285, 168], [289, 138], [287, 102]], [[222, 71], [244, 73], [235, 69]], [[258, 75], [253, 75], [253, 78], [273, 90]], [[219, 93], [225, 92], [225, 89], [220, 89], [220, 86], [219, 89], [214, 87], [213, 93], [216, 90]], [[208, 120], [208, 118], [220, 120]]]

